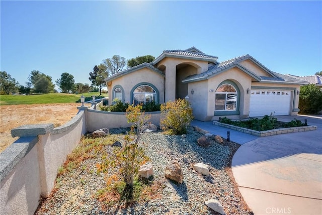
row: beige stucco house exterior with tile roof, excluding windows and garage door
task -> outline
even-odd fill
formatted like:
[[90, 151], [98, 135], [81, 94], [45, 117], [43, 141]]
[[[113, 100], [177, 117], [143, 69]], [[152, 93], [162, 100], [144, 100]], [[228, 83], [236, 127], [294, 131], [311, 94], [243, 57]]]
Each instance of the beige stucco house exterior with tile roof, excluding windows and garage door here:
[[[173, 52], [175, 54], [172, 52], [169, 55], [162, 54], [156, 62], [149, 64], [157, 72], [146, 67], [136, 68], [133, 72], [107, 80], [108, 90], [111, 92], [109, 103], [113, 100], [113, 89], [116, 86], [122, 86], [124, 89], [123, 101], [132, 102], [133, 87], [139, 83], [146, 83], [157, 88], [159, 103], [188, 95], [194, 118], [201, 121], [218, 120], [219, 117], [226, 116], [230, 119], [248, 118], [251, 105], [250, 92], [253, 89], [289, 90], [292, 94], [289, 114], [296, 115], [299, 111], [297, 91], [303, 84], [281, 81], [253, 57], [245, 55], [236, 60], [228, 60], [219, 70], [212, 73], [209, 68], [218, 65], [216, 57], [211, 58], [212, 56], [205, 55], [200, 50], [181, 56], [180, 54], [187, 50], [179, 51], [175, 50]], [[196, 57], [191, 57], [194, 53], [197, 53]], [[205, 57], [201, 59], [199, 55]], [[211, 60], [207, 61], [209, 58]], [[193, 78], [189, 79], [191, 76]], [[223, 83], [232, 84], [237, 90], [236, 110], [215, 111], [216, 89]]]

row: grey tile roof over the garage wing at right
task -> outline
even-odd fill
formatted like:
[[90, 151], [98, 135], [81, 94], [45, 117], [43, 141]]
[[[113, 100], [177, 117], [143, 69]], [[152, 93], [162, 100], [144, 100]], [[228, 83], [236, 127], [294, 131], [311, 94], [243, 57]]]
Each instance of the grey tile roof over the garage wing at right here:
[[[264, 77], [264, 76], [258, 76], [254, 72], [248, 70], [244, 66], [240, 65], [239, 62], [251, 59], [253, 62], [255, 62], [258, 66], [262, 67], [264, 70], [266, 70], [269, 74], [271, 74], [273, 77]], [[239, 67], [240, 69], [247, 72], [250, 76], [257, 79], [258, 81], [263, 82], [282, 82], [282, 83], [301, 83], [305, 84], [306, 82], [298, 80], [294, 77], [289, 77], [287, 75], [283, 75], [277, 72], [273, 72], [270, 69], [268, 69], [266, 66], [261, 64], [258, 60], [256, 60], [254, 57], [250, 56], [249, 54], [235, 57], [226, 61], [222, 61], [218, 64], [215, 64], [213, 66], [210, 66], [207, 71], [188, 76], [183, 80], [183, 82], [191, 82], [191, 81], [197, 81], [197, 80], [205, 80], [208, 79], [210, 76], [216, 75], [217, 73], [220, 73], [223, 70], [232, 68], [234, 66]]]

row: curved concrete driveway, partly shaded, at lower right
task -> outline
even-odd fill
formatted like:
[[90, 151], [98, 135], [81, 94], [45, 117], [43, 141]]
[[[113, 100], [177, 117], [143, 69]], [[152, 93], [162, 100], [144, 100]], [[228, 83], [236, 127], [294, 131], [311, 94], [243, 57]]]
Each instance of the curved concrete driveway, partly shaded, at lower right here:
[[318, 127], [241, 145], [232, 159], [241, 195], [255, 214], [322, 214], [322, 118], [276, 118]]

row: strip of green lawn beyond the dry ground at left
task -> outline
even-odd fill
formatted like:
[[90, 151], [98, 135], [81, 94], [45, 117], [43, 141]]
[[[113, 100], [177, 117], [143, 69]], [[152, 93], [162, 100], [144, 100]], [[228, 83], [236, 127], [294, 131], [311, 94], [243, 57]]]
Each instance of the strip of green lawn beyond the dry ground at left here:
[[[99, 92], [84, 93], [86, 101], [92, 100], [92, 96], [98, 96]], [[48, 93], [36, 95], [0, 95], [0, 105], [6, 104], [44, 104], [44, 103], [72, 103], [80, 102], [82, 94]], [[107, 97], [103, 94], [101, 97]], [[100, 98], [101, 98], [100, 97]]]

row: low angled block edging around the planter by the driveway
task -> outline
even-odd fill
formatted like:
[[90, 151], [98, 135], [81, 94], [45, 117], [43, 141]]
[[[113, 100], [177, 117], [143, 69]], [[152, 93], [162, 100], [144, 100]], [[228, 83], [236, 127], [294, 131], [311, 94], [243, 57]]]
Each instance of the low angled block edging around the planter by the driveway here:
[[259, 132], [259, 131], [255, 131], [252, 129], [241, 128], [241, 127], [228, 125], [228, 124], [224, 124], [224, 123], [219, 123], [219, 122], [215, 122], [215, 121], [213, 122], [213, 125], [224, 127], [224, 128], [231, 129], [231, 130], [235, 130], [238, 132], [243, 132], [243, 133], [258, 136], [258, 137], [267, 137], [267, 136], [286, 134], [286, 133], [292, 133], [292, 132], [314, 131], [317, 128], [317, 126], [301, 126], [301, 127], [272, 129], [272, 130]]

